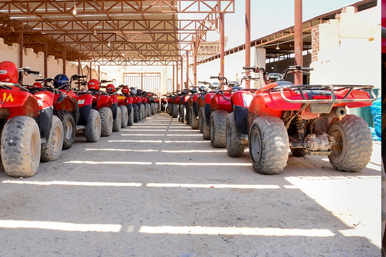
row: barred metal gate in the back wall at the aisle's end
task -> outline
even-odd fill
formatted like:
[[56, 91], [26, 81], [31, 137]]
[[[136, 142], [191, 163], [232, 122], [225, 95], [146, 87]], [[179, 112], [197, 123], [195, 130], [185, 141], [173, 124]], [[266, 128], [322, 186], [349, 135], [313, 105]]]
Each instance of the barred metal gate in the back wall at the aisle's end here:
[[159, 96], [161, 73], [124, 73], [124, 85], [136, 87]]

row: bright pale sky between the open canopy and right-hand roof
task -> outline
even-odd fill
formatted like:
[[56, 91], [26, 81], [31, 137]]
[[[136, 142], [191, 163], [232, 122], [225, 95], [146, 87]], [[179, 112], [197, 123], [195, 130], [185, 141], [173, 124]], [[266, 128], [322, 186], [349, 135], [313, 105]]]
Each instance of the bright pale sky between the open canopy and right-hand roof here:
[[[359, 0], [303, 0], [303, 21], [359, 2]], [[235, 13], [225, 15], [227, 49], [245, 43], [245, 0], [235, 0]], [[294, 25], [295, 0], [251, 0], [251, 40]], [[209, 41], [220, 38], [208, 34]]]

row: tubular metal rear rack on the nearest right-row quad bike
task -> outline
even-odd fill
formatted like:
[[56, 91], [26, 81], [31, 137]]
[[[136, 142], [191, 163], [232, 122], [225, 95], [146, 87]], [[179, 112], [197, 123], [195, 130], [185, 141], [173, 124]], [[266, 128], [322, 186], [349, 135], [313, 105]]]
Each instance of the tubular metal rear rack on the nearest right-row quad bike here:
[[[337, 99], [335, 91], [341, 89], [347, 89], [348, 92], [342, 99]], [[280, 96], [287, 102], [290, 103], [346, 103], [346, 102], [372, 102], [377, 99], [373, 91], [373, 85], [286, 85], [281, 87], [275, 87], [272, 89], [280, 89]], [[288, 99], [284, 95], [284, 90], [299, 90], [299, 93], [302, 95], [301, 100], [292, 100]], [[307, 99], [304, 93], [304, 90], [324, 90], [331, 93], [331, 99]], [[347, 99], [347, 97], [352, 93], [354, 89], [357, 90], [369, 90], [370, 98], [360, 98], [360, 99]]]

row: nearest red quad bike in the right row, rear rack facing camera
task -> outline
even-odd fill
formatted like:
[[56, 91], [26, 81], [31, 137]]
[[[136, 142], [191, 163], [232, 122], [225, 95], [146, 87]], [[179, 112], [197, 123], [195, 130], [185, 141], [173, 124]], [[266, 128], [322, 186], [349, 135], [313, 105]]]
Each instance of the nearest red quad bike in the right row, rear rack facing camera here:
[[[262, 174], [280, 173], [294, 156], [328, 156], [345, 172], [362, 170], [372, 152], [372, 138], [363, 118], [346, 114], [346, 107], [363, 107], [376, 99], [370, 85], [294, 85], [283, 81], [289, 73], [313, 70], [290, 66], [282, 74], [266, 74], [248, 109], [248, 146], [252, 166]], [[281, 76], [279, 76], [281, 75]]]

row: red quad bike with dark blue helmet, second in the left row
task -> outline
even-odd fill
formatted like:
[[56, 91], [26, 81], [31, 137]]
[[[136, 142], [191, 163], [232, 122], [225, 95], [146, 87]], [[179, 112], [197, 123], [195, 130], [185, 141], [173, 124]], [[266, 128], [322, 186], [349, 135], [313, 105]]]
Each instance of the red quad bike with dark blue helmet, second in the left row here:
[[[69, 79], [64, 74], [58, 74], [54, 79], [36, 79], [34, 85], [29, 89], [33, 94], [39, 90], [48, 90], [54, 93], [54, 115], [57, 116], [63, 125], [63, 147], [62, 150], [69, 149], [75, 140], [76, 123], [79, 119], [79, 106], [76, 96], [67, 95], [70, 90]], [[39, 84], [40, 82], [40, 84]], [[36, 84], [37, 83], [37, 84]], [[48, 85], [51, 83], [51, 85]], [[53, 87], [52, 87], [53, 86]]]

